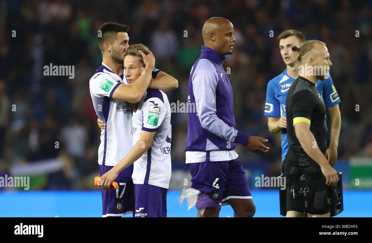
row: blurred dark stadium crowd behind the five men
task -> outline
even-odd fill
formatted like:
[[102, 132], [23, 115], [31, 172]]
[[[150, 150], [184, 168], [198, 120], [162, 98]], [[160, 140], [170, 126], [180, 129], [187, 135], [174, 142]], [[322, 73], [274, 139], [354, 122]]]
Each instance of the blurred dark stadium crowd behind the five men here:
[[[212, 16], [230, 20], [236, 41], [224, 68], [231, 72], [236, 128], [268, 138], [270, 147], [263, 155], [240, 145], [236, 151], [243, 165], [264, 164], [271, 176], [280, 175], [280, 134], [269, 132], [264, 103], [267, 83], [285, 69], [277, 37], [298, 29], [324, 41], [341, 98], [339, 160], [372, 157], [372, 1], [7, 0], [0, 16], [0, 175], [35, 161], [62, 161], [61, 170], [35, 175], [32, 189], [92, 188], [100, 131], [89, 78], [102, 61], [96, 36], [107, 21], [130, 25], [129, 45], [147, 45], [155, 67], [177, 78], [179, 88], [167, 92], [177, 103], [187, 102], [203, 23]], [[50, 63], [73, 65], [74, 78], [44, 76]], [[172, 113], [171, 121], [172, 166], [187, 169], [187, 114]]]

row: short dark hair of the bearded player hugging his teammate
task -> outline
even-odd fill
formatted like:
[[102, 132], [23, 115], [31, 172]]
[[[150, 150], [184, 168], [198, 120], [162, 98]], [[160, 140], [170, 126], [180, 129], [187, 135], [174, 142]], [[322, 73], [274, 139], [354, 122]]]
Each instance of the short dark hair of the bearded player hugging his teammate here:
[[103, 53], [105, 51], [105, 47], [103, 45], [105, 43], [112, 44], [115, 39], [118, 32], [128, 32], [129, 26], [125, 24], [118, 24], [113, 22], [106, 22], [99, 27], [99, 30], [101, 33], [97, 35], [97, 42], [99, 49]]

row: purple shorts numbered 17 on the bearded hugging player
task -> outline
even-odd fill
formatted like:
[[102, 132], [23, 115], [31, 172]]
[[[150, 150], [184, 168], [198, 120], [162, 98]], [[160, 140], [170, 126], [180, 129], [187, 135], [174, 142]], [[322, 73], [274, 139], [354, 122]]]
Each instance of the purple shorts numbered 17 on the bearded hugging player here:
[[[113, 166], [99, 165], [99, 174], [102, 176]], [[134, 188], [132, 181], [133, 164], [119, 173], [115, 181], [119, 189], [105, 190], [102, 192], [102, 217], [123, 216], [124, 214], [133, 213], [134, 210]]]

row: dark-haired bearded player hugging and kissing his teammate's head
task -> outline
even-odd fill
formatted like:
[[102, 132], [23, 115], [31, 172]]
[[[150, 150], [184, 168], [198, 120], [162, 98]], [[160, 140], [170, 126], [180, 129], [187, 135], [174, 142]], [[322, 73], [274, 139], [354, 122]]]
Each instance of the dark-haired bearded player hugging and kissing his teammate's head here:
[[[127, 32], [128, 26], [108, 22], [100, 27], [97, 35], [102, 65], [90, 78], [89, 88], [96, 114], [106, 123], [98, 151], [100, 175], [109, 171], [132, 148], [132, 109], [129, 103], [140, 101], [148, 87], [165, 91], [178, 87], [173, 77], [166, 74], [156, 76], [159, 71], [154, 69], [155, 58], [150, 51], [147, 55], [139, 52], [145, 65], [137, 82], [128, 86], [122, 67], [129, 47]], [[129, 167], [118, 176], [119, 189], [116, 191], [102, 189], [102, 217], [133, 213], [132, 170], [133, 167]]]

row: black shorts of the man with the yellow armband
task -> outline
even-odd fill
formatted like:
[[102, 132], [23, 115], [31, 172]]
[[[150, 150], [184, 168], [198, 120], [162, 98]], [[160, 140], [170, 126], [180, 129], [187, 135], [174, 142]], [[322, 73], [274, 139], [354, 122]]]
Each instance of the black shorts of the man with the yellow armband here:
[[286, 177], [287, 211], [310, 214], [330, 212], [325, 176], [316, 162], [299, 166], [285, 159], [282, 171]]

